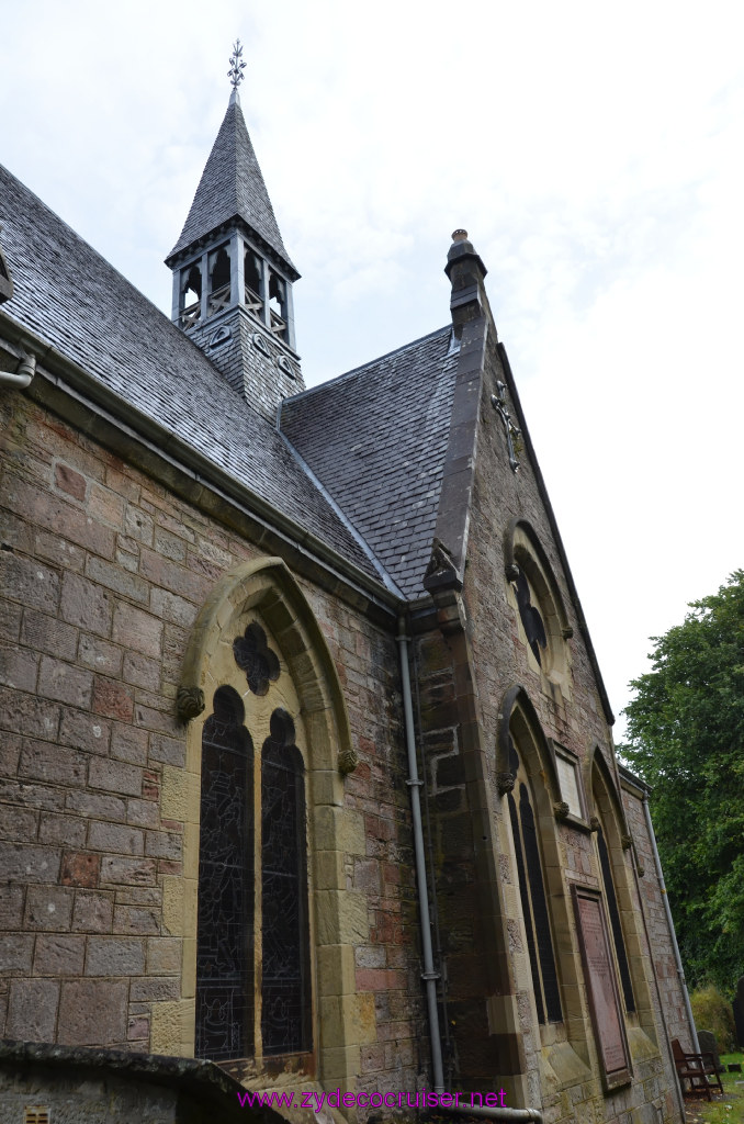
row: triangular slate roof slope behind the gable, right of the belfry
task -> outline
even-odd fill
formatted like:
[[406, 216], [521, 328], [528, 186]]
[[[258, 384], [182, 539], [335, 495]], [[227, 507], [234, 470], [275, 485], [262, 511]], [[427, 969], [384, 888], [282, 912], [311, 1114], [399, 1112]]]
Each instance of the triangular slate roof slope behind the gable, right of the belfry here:
[[442, 328], [284, 399], [282, 433], [407, 597], [432, 553], [457, 351]]

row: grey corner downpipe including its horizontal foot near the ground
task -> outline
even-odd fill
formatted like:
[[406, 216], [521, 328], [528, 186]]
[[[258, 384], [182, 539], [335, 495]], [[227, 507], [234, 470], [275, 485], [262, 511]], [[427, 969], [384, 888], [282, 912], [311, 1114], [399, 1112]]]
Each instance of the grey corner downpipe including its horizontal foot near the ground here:
[[[418, 760], [416, 755], [416, 734], [414, 731], [414, 706], [410, 690], [410, 672], [408, 670], [408, 636], [406, 635], [406, 620], [401, 616], [398, 618], [398, 654], [400, 659], [400, 682], [403, 696], [403, 719], [406, 724], [406, 750], [408, 753], [408, 780], [410, 789], [411, 817], [414, 821], [414, 855], [416, 860], [416, 885], [418, 887], [418, 908], [421, 923], [421, 951], [424, 959], [424, 971], [421, 979], [426, 984], [426, 1005], [429, 1016], [429, 1036], [432, 1043], [432, 1070], [434, 1077], [434, 1091], [442, 1096], [444, 1088], [444, 1069], [442, 1064], [442, 1039], [439, 1036], [439, 1014], [437, 1009], [436, 981], [439, 972], [434, 968], [434, 955], [432, 950], [432, 919], [429, 916], [429, 895], [426, 878], [426, 858], [424, 851], [424, 831], [421, 827], [421, 800], [419, 789], [424, 783], [418, 776]], [[454, 1098], [453, 1098], [454, 1099]], [[477, 1116], [480, 1120], [498, 1120], [519, 1122], [532, 1121], [534, 1124], [542, 1124], [543, 1115], [537, 1108], [489, 1108], [488, 1106], [468, 1105], [439, 1105], [444, 1112], [457, 1116]]]

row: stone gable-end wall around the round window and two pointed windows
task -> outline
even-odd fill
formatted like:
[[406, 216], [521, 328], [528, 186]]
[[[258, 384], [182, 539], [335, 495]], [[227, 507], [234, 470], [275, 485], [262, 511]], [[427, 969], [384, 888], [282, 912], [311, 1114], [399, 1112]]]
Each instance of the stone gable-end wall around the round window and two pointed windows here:
[[[466, 327], [463, 342], [468, 339], [469, 346], [474, 346], [472, 336], [472, 326]], [[517, 473], [509, 465], [505, 426], [491, 401], [498, 381], [506, 383], [507, 407], [523, 429], [521, 438], [516, 438]], [[625, 825], [604, 691], [492, 326], [477, 424], [464, 588], [461, 596], [451, 596], [448, 606], [446, 598], [438, 598], [441, 631], [425, 633], [417, 644], [447, 1005], [455, 1012], [454, 1080], [462, 1076], [491, 1087], [501, 1080], [510, 1103], [542, 1106], [551, 1124], [575, 1118], [578, 1112], [614, 1120], [633, 1111], [651, 1120], [659, 1111], [673, 1118], [679, 1115], [677, 1082], [638, 909], [634, 856], [621, 842]], [[443, 491], [446, 487], [445, 480]], [[550, 668], [538, 664], [529, 649], [514, 586], [505, 573], [505, 540], [516, 519], [534, 528], [545, 555], [543, 569], [553, 575], [555, 597], [568, 614], [565, 634], [555, 633], [560, 658], [554, 653]], [[523, 688], [539, 726], [532, 736], [523, 722], [525, 741], [518, 749], [528, 759], [535, 789], [564, 1010], [563, 1023], [543, 1026], [532, 998], [511, 833], [498, 776], [503, 768], [498, 744], [505, 698], [516, 686]], [[546, 738], [578, 762], [584, 794], [582, 823], [556, 819], [557, 782], [551, 779], [554, 764]], [[570, 900], [572, 881], [601, 887], [589, 823], [600, 810], [593, 797], [600, 774], [617, 804], [609, 806], [616, 823], [608, 846], [637, 1006], [626, 1018], [633, 1082], [609, 1095], [600, 1080]], [[479, 1042], [477, 1055], [473, 1041]]]

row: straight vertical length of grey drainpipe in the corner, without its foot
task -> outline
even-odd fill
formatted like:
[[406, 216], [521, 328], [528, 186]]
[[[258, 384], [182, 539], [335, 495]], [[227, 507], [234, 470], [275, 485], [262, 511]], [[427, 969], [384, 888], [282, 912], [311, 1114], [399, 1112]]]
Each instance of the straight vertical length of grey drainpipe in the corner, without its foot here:
[[432, 954], [432, 922], [429, 917], [429, 895], [426, 881], [426, 859], [424, 854], [424, 832], [421, 830], [421, 799], [419, 788], [423, 781], [418, 777], [416, 760], [416, 734], [414, 733], [414, 707], [410, 694], [410, 673], [408, 671], [408, 637], [406, 622], [398, 618], [398, 653], [400, 658], [400, 682], [403, 692], [403, 719], [406, 723], [406, 749], [408, 751], [408, 780], [410, 789], [410, 807], [414, 818], [414, 855], [416, 858], [416, 883], [418, 886], [418, 912], [421, 921], [421, 951], [424, 953], [424, 971], [421, 979], [426, 984], [426, 1005], [429, 1015], [429, 1037], [432, 1042], [432, 1070], [434, 1091], [444, 1093], [444, 1071], [442, 1068], [442, 1040], [439, 1037], [439, 1013], [436, 1000], [436, 981], [439, 973], [434, 968]]

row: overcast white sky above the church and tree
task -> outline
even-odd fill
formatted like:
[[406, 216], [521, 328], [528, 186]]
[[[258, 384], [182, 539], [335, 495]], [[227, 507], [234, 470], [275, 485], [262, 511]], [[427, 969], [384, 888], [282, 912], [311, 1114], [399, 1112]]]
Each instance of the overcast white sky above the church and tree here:
[[744, 565], [744, 6], [0, 0], [0, 162], [165, 311], [236, 36], [309, 384], [470, 232], [617, 714]]

